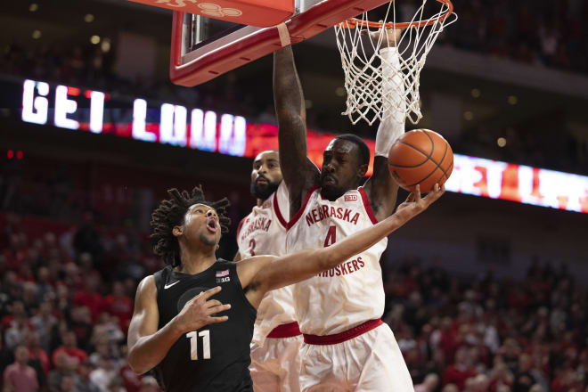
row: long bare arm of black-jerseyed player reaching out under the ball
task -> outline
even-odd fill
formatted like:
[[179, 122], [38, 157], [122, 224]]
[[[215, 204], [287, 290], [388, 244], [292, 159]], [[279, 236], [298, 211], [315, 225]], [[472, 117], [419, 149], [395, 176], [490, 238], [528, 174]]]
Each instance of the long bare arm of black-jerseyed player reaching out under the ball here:
[[241, 285], [247, 289], [249, 301], [253, 306], [258, 306], [266, 291], [304, 281], [371, 248], [427, 209], [444, 192], [445, 188], [436, 185], [434, 191], [421, 199], [417, 185], [417, 190], [398, 206], [394, 215], [328, 248], [301, 250], [284, 257], [250, 257], [241, 261], [237, 265], [237, 273]]

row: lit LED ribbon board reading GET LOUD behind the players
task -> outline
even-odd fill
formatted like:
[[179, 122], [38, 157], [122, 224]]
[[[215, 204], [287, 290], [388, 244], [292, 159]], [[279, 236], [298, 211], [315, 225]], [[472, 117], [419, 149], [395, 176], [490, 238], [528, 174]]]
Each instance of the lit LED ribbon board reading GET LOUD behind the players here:
[[[253, 158], [278, 149], [278, 127], [248, 123], [233, 114], [189, 109], [182, 105], [150, 105], [142, 98], [127, 107], [110, 107], [110, 94], [77, 87], [55, 86], [25, 80], [22, 88], [23, 121], [70, 130], [168, 143], [201, 151]], [[323, 151], [336, 134], [307, 132], [308, 156], [321, 167]], [[372, 174], [375, 143], [368, 175]], [[535, 206], [588, 213], [588, 176], [562, 173], [454, 154], [453, 174], [447, 191]]]

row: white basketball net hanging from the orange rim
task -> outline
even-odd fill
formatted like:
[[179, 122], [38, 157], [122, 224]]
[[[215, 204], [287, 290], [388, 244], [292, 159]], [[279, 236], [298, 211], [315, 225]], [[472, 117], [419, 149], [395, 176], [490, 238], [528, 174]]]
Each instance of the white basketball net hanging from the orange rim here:
[[[397, 94], [398, 91], [396, 94], [390, 94], [394, 93], [394, 90], [389, 88], [387, 94], [383, 93], [382, 86], [384, 84], [397, 86], [391, 78], [385, 78], [382, 73], [381, 63], [386, 61], [380, 57], [380, 47], [387, 39], [384, 29], [380, 29], [378, 41], [373, 42], [365, 34], [369, 32], [367, 23], [365, 25], [358, 23], [355, 29], [345, 28], [345, 25], [348, 26], [347, 21], [335, 25], [337, 46], [339, 53], [341, 53], [341, 62], [345, 73], [345, 89], [347, 90], [347, 110], [341, 114], [348, 116], [353, 124], [363, 118], [372, 125], [376, 119], [385, 120], [391, 115], [403, 116], [395, 118], [402, 122], [408, 118], [412, 124], [418, 123], [422, 118], [419, 95], [421, 69], [425, 65], [427, 54], [435, 44], [439, 33], [443, 31], [445, 26], [449, 26], [457, 20], [457, 15], [452, 13], [445, 20], [439, 20], [449, 9], [447, 4], [441, 2], [441, 9], [435, 15], [430, 17], [423, 15], [427, 0], [421, 1], [421, 7], [410, 22], [419, 22], [428, 18], [436, 21], [427, 27], [411, 25], [408, 29], [404, 29], [402, 36], [396, 42], [400, 54], [400, 70], [404, 74], [404, 94]], [[367, 12], [357, 19], [367, 22]], [[396, 23], [394, 0], [388, 4], [384, 21]], [[405, 113], [402, 110], [388, 110], [399, 106], [398, 99], [404, 99], [406, 102]]]

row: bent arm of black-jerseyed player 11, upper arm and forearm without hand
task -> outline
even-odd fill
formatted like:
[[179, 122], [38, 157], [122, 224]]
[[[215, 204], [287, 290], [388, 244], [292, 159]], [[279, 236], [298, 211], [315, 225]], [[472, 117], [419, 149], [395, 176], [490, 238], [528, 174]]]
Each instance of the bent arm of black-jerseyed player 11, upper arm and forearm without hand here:
[[167, 355], [169, 348], [180, 337], [181, 331], [172, 322], [161, 330], [157, 306], [157, 288], [153, 275], [139, 283], [135, 310], [128, 327], [128, 364], [137, 374], [149, 372]]

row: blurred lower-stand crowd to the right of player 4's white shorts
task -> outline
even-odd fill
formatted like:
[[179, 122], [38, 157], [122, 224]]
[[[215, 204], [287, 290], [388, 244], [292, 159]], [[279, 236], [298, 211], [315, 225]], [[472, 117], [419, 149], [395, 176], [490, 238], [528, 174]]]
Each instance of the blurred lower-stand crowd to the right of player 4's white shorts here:
[[512, 282], [407, 262], [385, 290], [417, 392], [588, 390], [588, 291], [565, 267], [535, 260]]

